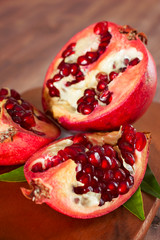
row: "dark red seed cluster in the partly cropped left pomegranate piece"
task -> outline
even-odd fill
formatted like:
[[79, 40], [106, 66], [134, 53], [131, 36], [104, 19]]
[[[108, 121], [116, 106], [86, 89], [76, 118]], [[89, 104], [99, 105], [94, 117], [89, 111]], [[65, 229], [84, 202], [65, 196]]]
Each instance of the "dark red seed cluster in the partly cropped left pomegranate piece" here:
[[[32, 128], [35, 127], [35, 117], [41, 121], [46, 121], [45, 117], [36, 116], [33, 112], [32, 106], [21, 99], [20, 94], [14, 89], [8, 90], [6, 88], [0, 89], [0, 99], [6, 99], [5, 109], [11, 116], [12, 120], [19, 124], [22, 128], [26, 130], [35, 131]], [[38, 135], [44, 135], [39, 131], [35, 131]]]

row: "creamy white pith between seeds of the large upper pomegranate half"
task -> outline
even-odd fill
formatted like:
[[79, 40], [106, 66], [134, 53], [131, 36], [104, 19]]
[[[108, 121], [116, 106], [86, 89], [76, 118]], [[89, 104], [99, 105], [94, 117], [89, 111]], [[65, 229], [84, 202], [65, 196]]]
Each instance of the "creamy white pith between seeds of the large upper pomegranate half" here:
[[[69, 57], [65, 58], [65, 62], [76, 63], [78, 56], [84, 55], [84, 53], [86, 53], [87, 51], [91, 50], [96, 51], [98, 49], [99, 41], [100, 41], [99, 36], [95, 34], [90, 34], [87, 37], [78, 40], [76, 43], [76, 47], [74, 49], [75, 54], [72, 54]], [[126, 67], [126, 65], [124, 64], [125, 58], [129, 59], [129, 61], [133, 60], [134, 58], [139, 58], [139, 60], [142, 60], [143, 54], [142, 52], [137, 51], [136, 48], [133, 47], [130, 47], [128, 49], [125, 48], [121, 49], [119, 52], [111, 52], [96, 66], [96, 70], [90, 70], [88, 72], [87, 66], [80, 66], [81, 71], [85, 75], [85, 80], [82, 80], [79, 83], [66, 87], [65, 84], [67, 82], [71, 82], [75, 79], [75, 77], [70, 74], [67, 77], [63, 77], [60, 81], [55, 82], [54, 86], [59, 90], [60, 97], [50, 98], [51, 108], [50, 110], [53, 112], [53, 116], [55, 118], [57, 116], [58, 117], [63, 116], [64, 111], [67, 110], [67, 112], [69, 112], [70, 114], [74, 114], [77, 115], [78, 117], [84, 118], [85, 116], [77, 111], [77, 100], [83, 96], [85, 89], [87, 88], [96, 89], [98, 84], [98, 81], [96, 80], [96, 75], [99, 72], [103, 72], [109, 75], [109, 73], [112, 71], [118, 72], [120, 68]], [[55, 74], [59, 72], [59, 70], [57, 70], [57, 67], [61, 61], [62, 58], [58, 59], [57, 62], [55, 63], [55, 68], [51, 77], [53, 77]], [[119, 77], [121, 77], [122, 74], [124, 73], [120, 72], [119, 75], [117, 76], [117, 79], [119, 79]], [[112, 92], [113, 89], [112, 101], [114, 101], [114, 92], [119, 93], [119, 90], [115, 88], [116, 84], [117, 84], [116, 78], [113, 79], [113, 81], [111, 81], [108, 84], [109, 91]], [[128, 82], [125, 81], [122, 82], [122, 85], [124, 85], [123, 87], [124, 96], [130, 91], [130, 89], [132, 89], [134, 84], [135, 84], [134, 81], [130, 82], [130, 84], [128, 84]], [[116, 94], [116, 97], [117, 95], [120, 96], [121, 94], [122, 93]], [[95, 96], [95, 99], [98, 100], [98, 97]], [[98, 105], [106, 107], [106, 104], [99, 100]]]

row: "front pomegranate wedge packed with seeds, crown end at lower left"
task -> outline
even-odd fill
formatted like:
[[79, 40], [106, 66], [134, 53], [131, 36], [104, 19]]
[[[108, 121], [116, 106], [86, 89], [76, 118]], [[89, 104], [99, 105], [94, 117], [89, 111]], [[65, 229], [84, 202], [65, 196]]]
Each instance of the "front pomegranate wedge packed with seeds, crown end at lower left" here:
[[131, 125], [110, 133], [77, 134], [49, 144], [25, 164], [31, 189], [23, 194], [37, 204], [75, 218], [93, 218], [121, 206], [145, 174], [150, 134]]

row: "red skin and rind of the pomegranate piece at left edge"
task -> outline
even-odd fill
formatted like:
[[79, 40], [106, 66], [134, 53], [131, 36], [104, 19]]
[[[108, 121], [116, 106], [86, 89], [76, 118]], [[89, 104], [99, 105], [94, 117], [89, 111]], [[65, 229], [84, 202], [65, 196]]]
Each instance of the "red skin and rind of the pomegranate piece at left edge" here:
[[6, 102], [5, 98], [0, 101], [0, 165], [23, 164], [38, 149], [56, 139], [60, 135], [60, 129], [29, 104], [34, 114], [44, 121], [34, 116], [35, 126], [27, 130], [12, 120], [5, 109]]

